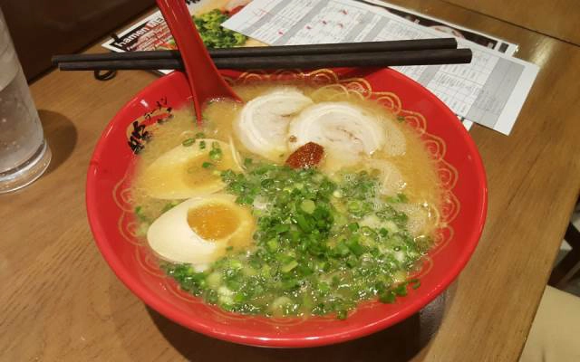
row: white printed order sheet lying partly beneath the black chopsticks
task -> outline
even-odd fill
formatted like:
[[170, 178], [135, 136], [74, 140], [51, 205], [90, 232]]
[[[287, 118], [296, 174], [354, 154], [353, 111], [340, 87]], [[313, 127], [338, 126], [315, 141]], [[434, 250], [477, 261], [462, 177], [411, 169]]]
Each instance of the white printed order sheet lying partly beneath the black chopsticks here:
[[[372, 5], [349, 0], [254, 0], [223, 26], [271, 45], [447, 37]], [[536, 79], [536, 65], [465, 39], [470, 64], [394, 67], [443, 100], [459, 118], [509, 134]], [[469, 127], [469, 121], [464, 122]]]

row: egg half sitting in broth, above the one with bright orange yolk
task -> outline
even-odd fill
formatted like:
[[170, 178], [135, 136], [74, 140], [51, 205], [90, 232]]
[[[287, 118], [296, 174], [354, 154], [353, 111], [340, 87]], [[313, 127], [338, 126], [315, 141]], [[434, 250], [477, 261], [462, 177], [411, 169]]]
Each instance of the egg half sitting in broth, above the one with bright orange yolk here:
[[[219, 157], [215, 149], [219, 148]], [[210, 152], [214, 150], [214, 158]], [[208, 195], [224, 188], [219, 170], [240, 171], [235, 150], [212, 138], [170, 149], [144, 170], [140, 187], [151, 197], [175, 200]]]

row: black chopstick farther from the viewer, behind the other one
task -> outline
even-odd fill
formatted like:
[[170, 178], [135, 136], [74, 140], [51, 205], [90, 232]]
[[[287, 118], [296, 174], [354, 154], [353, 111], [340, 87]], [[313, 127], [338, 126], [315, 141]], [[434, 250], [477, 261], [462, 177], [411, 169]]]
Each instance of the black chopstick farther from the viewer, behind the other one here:
[[[235, 58], [256, 56], [286, 56], [307, 54], [340, 54], [349, 52], [398, 52], [426, 49], [455, 49], [455, 38], [414, 39], [388, 42], [326, 43], [313, 45], [254, 46], [226, 49], [208, 49], [212, 58]], [[97, 62], [121, 60], [180, 59], [179, 51], [111, 52], [97, 54], [54, 55], [53, 64], [59, 62]]]

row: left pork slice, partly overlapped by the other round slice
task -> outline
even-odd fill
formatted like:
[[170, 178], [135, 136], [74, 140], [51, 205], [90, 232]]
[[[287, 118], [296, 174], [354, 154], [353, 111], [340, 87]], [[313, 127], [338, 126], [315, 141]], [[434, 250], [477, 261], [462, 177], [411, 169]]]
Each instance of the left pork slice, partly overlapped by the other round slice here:
[[234, 122], [237, 138], [251, 152], [280, 161], [287, 151], [288, 123], [313, 101], [295, 88], [280, 88], [247, 102]]

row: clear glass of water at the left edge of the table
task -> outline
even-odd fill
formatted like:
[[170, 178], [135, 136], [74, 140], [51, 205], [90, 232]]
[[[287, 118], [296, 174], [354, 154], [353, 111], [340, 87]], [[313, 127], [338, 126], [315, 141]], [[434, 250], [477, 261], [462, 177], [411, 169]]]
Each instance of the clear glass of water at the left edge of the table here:
[[34, 182], [51, 150], [0, 9], [0, 194]]

